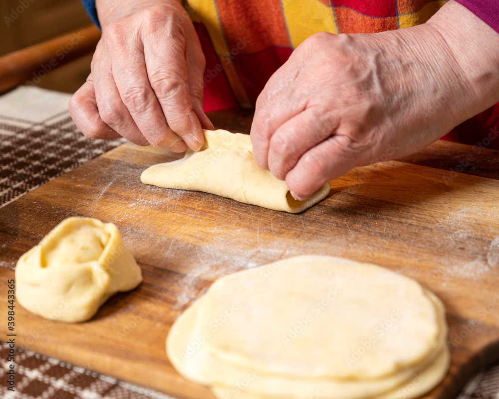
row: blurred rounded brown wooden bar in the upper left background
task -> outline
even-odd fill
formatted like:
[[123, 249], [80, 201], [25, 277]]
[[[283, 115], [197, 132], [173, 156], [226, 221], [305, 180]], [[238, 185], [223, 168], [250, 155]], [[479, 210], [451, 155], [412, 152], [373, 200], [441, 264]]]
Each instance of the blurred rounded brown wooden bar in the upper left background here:
[[95, 50], [100, 31], [94, 25], [0, 57], [0, 93], [43, 78], [53, 69]]

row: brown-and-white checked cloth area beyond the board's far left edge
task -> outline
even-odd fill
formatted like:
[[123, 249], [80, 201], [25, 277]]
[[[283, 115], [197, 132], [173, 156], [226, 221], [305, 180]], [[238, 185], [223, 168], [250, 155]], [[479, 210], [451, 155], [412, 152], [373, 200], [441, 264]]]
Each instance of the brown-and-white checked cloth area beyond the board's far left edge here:
[[81, 134], [70, 97], [34, 87], [0, 97], [0, 207], [124, 142]]

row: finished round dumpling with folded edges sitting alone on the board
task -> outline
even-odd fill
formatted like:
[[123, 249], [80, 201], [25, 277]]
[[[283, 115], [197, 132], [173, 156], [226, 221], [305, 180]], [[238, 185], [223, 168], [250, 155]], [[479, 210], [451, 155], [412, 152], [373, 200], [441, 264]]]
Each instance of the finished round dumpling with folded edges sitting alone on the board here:
[[78, 322], [111, 295], [139, 285], [142, 273], [114, 224], [74, 217], [19, 258], [15, 279], [16, 299], [26, 310]]

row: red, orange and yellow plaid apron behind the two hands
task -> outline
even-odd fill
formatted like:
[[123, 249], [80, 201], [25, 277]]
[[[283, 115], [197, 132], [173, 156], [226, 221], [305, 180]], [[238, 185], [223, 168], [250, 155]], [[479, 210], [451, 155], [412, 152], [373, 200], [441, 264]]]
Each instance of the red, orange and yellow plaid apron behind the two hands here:
[[[268, 78], [294, 48], [316, 32], [375, 33], [410, 27], [426, 22], [445, 2], [187, 0], [184, 5], [197, 22], [207, 60], [205, 111], [253, 106]], [[474, 145], [486, 139], [487, 146], [499, 149], [499, 140], [487, 141], [498, 129], [496, 105], [445, 139]]]

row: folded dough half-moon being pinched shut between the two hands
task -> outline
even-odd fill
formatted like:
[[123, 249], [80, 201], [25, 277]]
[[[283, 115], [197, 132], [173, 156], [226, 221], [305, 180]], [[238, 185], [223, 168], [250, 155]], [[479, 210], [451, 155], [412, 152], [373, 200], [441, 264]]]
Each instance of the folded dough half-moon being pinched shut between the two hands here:
[[203, 191], [276, 211], [302, 212], [327, 196], [329, 182], [310, 199], [296, 201], [286, 182], [254, 161], [250, 136], [225, 130], [205, 130], [200, 151], [188, 149], [184, 158], [144, 170], [141, 180], [164, 188]]

